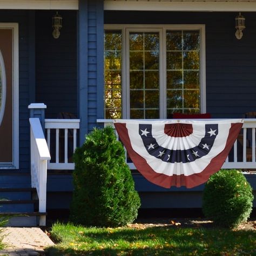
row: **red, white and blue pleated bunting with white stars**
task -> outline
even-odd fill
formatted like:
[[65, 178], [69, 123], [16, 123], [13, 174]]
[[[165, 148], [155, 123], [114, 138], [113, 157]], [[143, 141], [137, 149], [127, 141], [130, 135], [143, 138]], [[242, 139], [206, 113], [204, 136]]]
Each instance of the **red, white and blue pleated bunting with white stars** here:
[[242, 123], [242, 119], [114, 120], [137, 170], [165, 188], [205, 183], [223, 166]]

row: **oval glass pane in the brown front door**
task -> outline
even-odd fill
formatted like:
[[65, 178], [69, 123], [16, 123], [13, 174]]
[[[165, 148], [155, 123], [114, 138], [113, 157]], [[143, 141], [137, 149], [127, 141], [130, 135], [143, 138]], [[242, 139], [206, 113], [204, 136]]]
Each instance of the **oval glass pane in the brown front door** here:
[[0, 51], [0, 126], [4, 117], [4, 109], [5, 109], [5, 101], [6, 101], [6, 76], [5, 76], [5, 66], [4, 66], [4, 58], [2, 52]]

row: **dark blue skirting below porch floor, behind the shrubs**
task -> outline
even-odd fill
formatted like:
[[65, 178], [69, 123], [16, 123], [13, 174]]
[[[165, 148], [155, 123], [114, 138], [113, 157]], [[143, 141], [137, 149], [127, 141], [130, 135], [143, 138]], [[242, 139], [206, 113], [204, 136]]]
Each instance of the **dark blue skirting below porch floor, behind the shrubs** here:
[[[254, 190], [256, 198], [256, 176], [245, 174]], [[142, 206], [140, 208], [201, 208], [204, 185], [193, 188], [163, 188], [147, 181], [139, 174], [133, 175], [135, 189], [139, 192]], [[72, 175], [69, 173], [48, 174], [48, 209], [69, 208], [72, 199]], [[253, 201], [256, 207], [256, 200]]]

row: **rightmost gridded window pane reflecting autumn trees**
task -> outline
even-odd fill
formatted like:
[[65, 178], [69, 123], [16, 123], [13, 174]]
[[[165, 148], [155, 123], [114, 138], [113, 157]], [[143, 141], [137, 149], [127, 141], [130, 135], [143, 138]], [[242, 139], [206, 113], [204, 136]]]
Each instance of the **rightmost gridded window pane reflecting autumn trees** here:
[[166, 31], [167, 116], [200, 111], [199, 31]]

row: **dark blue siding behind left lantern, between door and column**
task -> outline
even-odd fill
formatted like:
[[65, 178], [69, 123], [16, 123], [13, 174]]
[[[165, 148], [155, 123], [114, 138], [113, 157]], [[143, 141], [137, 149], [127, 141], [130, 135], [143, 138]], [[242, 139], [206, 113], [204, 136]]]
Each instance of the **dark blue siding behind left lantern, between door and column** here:
[[47, 105], [46, 118], [59, 112], [77, 116], [77, 12], [59, 11], [60, 37], [52, 37], [55, 11], [36, 11], [36, 102]]

